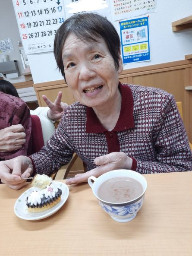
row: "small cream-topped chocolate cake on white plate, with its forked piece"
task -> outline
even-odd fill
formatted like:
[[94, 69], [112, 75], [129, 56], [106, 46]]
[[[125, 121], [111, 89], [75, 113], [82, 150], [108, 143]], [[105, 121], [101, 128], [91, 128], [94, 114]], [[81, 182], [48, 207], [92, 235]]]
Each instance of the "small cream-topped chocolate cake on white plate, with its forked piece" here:
[[28, 212], [44, 212], [61, 200], [62, 190], [54, 183], [51, 183], [51, 178], [45, 176], [45, 174], [37, 174], [31, 182], [40, 190], [34, 189], [26, 198]]

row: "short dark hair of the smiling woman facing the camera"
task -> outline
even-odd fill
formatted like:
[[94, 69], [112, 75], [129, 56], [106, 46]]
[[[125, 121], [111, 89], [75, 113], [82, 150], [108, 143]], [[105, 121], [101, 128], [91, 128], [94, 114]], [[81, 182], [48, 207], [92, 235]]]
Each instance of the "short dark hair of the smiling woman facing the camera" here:
[[103, 38], [113, 57], [116, 69], [119, 68], [120, 38], [113, 24], [96, 13], [79, 13], [66, 19], [55, 35], [54, 55], [57, 67], [64, 79], [62, 51], [69, 34], [74, 34], [81, 40], [88, 42], [98, 42], [99, 38]]

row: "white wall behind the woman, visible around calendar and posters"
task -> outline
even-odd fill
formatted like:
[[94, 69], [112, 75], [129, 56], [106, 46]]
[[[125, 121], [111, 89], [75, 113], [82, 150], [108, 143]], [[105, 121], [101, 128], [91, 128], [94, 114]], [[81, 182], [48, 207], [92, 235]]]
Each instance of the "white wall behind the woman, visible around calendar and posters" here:
[[[192, 29], [173, 33], [171, 26], [171, 22], [190, 15], [192, 0], [157, 0], [157, 12], [149, 14], [151, 61], [126, 64], [124, 69], [183, 60], [186, 54], [192, 54]], [[12, 38], [14, 43], [15, 53], [9, 54], [10, 59], [19, 60], [16, 50], [20, 37], [12, 0], [0, 0], [0, 24], [0, 39]], [[119, 32], [119, 22], [114, 25]], [[53, 52], [29, 54], [28, 61], [34, 83], [63, 79]]]

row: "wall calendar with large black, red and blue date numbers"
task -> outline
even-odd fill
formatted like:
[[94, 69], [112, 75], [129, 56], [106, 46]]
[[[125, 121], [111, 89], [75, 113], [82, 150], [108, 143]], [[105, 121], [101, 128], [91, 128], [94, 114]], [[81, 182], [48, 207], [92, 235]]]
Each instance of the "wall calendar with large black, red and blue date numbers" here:
[[13, 0], [13, 6], [25, 54], [53, 51], [65, 21], [63, 0]]

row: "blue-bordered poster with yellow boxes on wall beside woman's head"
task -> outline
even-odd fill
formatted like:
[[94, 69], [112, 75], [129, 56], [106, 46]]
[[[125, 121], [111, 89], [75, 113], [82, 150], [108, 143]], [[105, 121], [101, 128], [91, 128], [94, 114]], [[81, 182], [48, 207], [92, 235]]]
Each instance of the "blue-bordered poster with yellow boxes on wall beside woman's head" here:
[[120, 22], [123, 64], [150, 60], [148, 17]]

